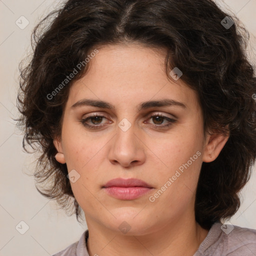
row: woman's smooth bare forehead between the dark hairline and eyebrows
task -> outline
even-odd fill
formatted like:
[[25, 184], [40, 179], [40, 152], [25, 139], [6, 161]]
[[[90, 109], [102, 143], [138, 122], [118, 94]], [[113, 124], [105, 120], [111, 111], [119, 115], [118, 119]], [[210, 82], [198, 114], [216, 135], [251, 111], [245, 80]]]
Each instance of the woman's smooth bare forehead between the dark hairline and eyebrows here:
[[139, 44], [103, 45], [91, 58], [86, 74], [75, 81], [68, 96], [69, 106], [83, 97], [121, 105], [137, 105], [142, 99], [171, 98], [197, 105], [196, 93], [181, 79], [172, 81], [165, 71], [164, 49]]

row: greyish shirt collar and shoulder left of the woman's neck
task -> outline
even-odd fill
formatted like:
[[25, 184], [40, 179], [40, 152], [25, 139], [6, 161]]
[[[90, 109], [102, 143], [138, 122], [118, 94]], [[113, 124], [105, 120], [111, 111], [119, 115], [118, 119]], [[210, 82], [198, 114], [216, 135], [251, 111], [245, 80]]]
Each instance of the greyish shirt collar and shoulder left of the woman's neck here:
[[53, 254], [52, 256], [89, 256], [86, 249], [86, 240], [88, 237], [88, 229], [84, 231], [80, 237], [80, 239], [65, 249]]

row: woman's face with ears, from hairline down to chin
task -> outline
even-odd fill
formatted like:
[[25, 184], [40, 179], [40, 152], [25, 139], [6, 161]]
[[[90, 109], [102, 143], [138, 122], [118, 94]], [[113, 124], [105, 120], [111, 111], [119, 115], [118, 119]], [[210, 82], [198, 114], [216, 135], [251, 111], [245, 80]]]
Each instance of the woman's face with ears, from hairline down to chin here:
[[[167, 77], [164, 51], [135, 44], [98, 49], [70, 88], [61, 138], [54, 140], [88, 226], [145, 234], [193, 218], [201, 163], [216, 158], [226, 140], [204, 138], [197, 95], [182, 77]], [[148, 102], [163, 100], [170, 104]], [[104, 187], [115, 178], [140, 179], [147, 188]]]

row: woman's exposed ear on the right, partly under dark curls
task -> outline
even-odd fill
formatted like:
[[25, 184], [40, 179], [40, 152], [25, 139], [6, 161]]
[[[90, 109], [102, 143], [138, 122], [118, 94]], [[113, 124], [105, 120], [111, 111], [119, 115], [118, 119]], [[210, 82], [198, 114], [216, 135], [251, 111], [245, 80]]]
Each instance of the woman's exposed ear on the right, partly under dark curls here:
[[221, 134], [208, 134], [206, 137], [206, 143], [204, 145], [202, 161], [211, 162], [217, 158], [221, 149], [224, 147], [226, 141], [229, 138], [229, 134], [224, 136]]

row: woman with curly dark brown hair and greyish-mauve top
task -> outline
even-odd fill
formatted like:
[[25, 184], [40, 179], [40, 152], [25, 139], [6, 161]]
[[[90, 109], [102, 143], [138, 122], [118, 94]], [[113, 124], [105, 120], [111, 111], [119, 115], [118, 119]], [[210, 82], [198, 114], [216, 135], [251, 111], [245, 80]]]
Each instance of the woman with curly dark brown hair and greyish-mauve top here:
[[211, 0], [68, 0], [37, 25], [19, 121], [40, 193], [88, 226], [55, 255], [256, 253], [256, 230], [221, 222], [256, 157], [235, 19]]

